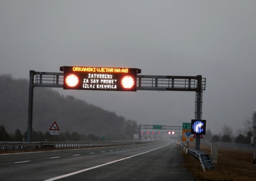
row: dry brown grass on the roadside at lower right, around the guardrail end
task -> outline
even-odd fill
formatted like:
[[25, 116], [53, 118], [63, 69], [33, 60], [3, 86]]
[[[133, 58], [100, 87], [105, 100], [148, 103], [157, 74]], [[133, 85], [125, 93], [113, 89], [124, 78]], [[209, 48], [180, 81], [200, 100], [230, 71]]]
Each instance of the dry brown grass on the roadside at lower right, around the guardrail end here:
[[[189, 144], [195, 148], [194, 143]], [[200, 145], [200, 150], [211, 156], [211, 145]], [[256, 181], [256, 165], [253, 162], [253, 150], [244, 151], [218, 146], [218, 163], [215, 170], [202, 170], [199, 160], [182, 150], [186, 167], [198, 181]]]

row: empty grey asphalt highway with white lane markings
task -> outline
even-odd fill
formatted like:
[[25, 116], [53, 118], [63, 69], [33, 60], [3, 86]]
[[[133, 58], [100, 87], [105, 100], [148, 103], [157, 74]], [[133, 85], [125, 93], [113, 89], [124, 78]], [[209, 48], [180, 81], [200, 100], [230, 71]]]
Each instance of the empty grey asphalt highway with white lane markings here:
[[194, 181], [174, 140], [0, 155], [0, 180]]

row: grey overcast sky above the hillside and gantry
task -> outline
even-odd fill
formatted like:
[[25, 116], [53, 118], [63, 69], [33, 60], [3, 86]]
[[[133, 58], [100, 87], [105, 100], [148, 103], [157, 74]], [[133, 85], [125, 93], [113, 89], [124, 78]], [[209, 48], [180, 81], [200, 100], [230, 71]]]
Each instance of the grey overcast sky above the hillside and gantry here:
[[[0, 0], [0, 74], [28, 79], [60, 66], [202, 75], [207, 129], [235, 134], [256, 109], [256, 1]], [[138, 124], [195, 117], [195, 92], [56, 91]]]

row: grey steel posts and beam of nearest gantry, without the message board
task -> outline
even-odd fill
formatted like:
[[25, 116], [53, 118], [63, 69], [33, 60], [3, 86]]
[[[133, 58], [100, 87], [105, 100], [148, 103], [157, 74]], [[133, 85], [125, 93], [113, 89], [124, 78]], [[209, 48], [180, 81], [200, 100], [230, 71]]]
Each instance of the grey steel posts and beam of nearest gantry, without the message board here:
[[[29, 72], [28, 98], [28, 142], [31, 142], [33, 117], [34, 87], [63, 88], [64, 73], [60, 72]], [[150, 76], [137, 75], [137, 90], [142, 91], [195, 91], [196, 110], [195, 119], [201, 119], [202, 92], [205, 90], [206, 78], [198, 76]], [[196, 135], [196, 149], [200, 149], [200, 135]]]

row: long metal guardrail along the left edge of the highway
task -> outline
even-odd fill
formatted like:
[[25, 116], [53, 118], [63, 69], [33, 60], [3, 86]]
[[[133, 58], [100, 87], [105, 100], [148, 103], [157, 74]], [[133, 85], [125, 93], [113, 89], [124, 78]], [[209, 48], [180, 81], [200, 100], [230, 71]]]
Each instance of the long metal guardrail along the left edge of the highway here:
[[107, 146], [124, 146], [143, 144], [155, 141], [125, 141], [125, 142], [0, 142], [0, 151], [6, 150], [27, 150], [43, 148], [92, 148]]

